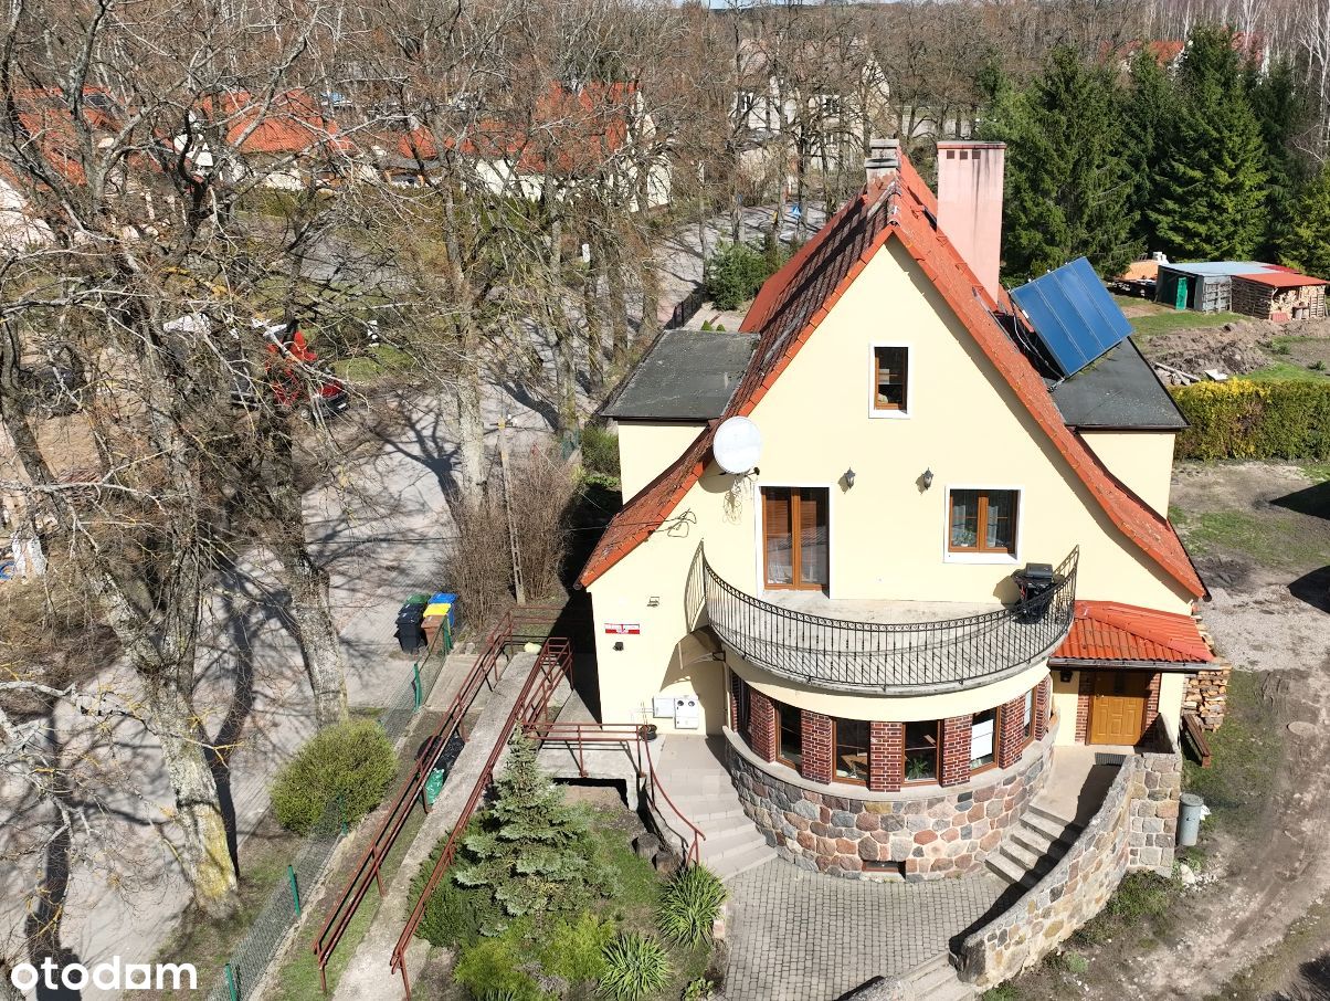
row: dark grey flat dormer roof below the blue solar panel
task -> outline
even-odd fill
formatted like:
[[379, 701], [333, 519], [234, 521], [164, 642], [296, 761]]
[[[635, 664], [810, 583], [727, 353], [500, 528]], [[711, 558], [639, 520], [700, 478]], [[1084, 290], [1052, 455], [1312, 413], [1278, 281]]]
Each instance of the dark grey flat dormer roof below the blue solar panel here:
[[1085, 430], [1181, 431], [1186, 418], [1130, 338], [1075, 375], [1049, 381], [1063, 421]]

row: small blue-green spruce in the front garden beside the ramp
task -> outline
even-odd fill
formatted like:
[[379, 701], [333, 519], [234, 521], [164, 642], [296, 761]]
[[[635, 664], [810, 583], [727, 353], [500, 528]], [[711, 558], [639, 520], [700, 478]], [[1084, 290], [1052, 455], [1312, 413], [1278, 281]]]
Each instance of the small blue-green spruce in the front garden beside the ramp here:
[[507, 918], [576, 910], [612, 891], [612, 875], [596, 856], [585, 812], [564, 801], [536, 764], [535, 744], [520, 732], [513, 733], [508, 760], [495, 780], [493, 803], [462, 844], [454, 879], [463, 887], [484, 887]]

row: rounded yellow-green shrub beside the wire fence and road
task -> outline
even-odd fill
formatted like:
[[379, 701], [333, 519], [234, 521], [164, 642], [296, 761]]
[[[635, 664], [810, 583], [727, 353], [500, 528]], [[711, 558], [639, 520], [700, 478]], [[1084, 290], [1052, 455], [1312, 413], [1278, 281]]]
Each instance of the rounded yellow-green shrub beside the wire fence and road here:
[[379, 805], [396, 771], [392, 741], [378, 723], [325, 727], [277, 773], [273, 809], [287, 831], [307, 835], [340, 797], [343, 819], [355, 824]]

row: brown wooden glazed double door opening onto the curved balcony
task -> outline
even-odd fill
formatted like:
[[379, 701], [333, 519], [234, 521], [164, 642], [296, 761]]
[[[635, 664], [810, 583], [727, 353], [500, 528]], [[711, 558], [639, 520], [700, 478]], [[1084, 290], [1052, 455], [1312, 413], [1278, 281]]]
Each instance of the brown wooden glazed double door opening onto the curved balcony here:
[[826, 487], [762, 487], [762, 566], [767, 587], [827, 586], [831, 506]]

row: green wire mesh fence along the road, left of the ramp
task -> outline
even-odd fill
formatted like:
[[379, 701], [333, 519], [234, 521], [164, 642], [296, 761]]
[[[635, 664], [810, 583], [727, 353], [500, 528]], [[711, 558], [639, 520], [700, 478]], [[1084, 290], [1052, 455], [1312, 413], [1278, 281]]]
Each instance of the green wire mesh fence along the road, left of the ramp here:
[[[411, 678], [379, 713], [378, 723], [394, 743], [407, 732], [415, 713], [424, 705], [451, 650], [452, 631], [448, 627], [440, 628], [424, 655], [411, 664]], [[346, 833], [342, 804], [332, 800], [286, 867], [286, 879], [273, 888], [263, 909], [231, 952], [221, 977], [213, 985], [209, 1001], [245, 1001], [254, 997], [269, 965], [282, 950], [283, 941], [301, 917], [306, 892], [313, 892], [318, 885], [332, 851]]]

